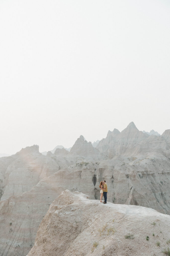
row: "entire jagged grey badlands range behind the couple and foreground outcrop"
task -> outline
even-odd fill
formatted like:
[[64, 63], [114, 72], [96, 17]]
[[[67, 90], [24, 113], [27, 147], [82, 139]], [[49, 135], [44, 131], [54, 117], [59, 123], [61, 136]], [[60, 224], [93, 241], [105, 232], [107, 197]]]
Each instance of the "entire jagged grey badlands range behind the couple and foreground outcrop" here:
[[122, 133], [108, 132], [97, 149], [80, 136], [70, 152], [62, 148], [45, 156], [34, 145], [0, 158], [0, 256], [29, 252], [49, 205], [63, 190], [99, 200], [103, 179], [108, 201], [170, 214], [168, 134], [143, 137], [131, 123]]

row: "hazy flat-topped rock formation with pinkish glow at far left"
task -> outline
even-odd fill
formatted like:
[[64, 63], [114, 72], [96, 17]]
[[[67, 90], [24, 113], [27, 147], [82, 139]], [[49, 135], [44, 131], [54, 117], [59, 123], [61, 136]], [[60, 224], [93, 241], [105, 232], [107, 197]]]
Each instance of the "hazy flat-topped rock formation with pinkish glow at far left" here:
[[5, 165], [5, 169], [1, 168], [3, 176], [1, 200], [12, 195], [22, 195], [25, 191], [31, 190], [44, 177], [68, 166], [63, 158], [45, 157], [38, 149], [37, 145], [26, 147], [10, 156], [9, 160], [8, 158], [1, 159], [0, 163]]

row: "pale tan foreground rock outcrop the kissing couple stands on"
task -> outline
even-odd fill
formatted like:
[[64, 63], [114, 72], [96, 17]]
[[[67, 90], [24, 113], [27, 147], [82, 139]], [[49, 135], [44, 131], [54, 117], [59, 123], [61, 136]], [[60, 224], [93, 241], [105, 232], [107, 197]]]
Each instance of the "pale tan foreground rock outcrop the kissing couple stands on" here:
[[[27, 256], [158, 256], [169, 233], [169, 215], [141, 206], [103, 205], [67, 190], [50, 205]], [[128, 234], [134, 239], [126, 239]]]

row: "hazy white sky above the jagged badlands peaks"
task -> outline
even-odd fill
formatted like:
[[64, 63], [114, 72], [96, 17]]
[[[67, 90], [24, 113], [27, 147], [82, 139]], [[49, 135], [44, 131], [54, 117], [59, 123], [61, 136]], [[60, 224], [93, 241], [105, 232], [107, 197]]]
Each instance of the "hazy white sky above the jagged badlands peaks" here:
[[0, 153], [170, 129], [169, 0], [0, 0]]

